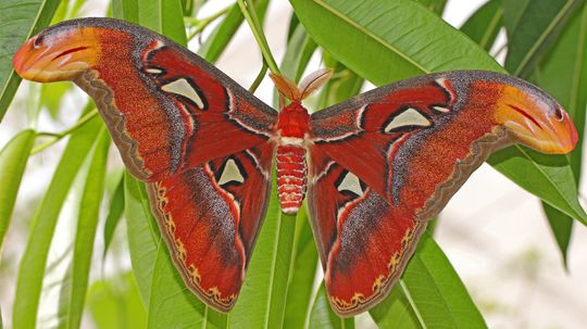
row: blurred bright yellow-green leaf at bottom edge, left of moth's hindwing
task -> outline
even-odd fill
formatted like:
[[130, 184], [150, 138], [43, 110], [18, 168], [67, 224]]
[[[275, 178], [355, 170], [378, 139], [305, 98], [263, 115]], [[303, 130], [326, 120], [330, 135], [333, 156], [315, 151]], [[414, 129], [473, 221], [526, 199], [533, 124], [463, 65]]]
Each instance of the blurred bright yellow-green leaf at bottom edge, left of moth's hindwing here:
[[146, 328], [147, 314], [130, 273], [91, 284], [88, 308], [97, 329]]

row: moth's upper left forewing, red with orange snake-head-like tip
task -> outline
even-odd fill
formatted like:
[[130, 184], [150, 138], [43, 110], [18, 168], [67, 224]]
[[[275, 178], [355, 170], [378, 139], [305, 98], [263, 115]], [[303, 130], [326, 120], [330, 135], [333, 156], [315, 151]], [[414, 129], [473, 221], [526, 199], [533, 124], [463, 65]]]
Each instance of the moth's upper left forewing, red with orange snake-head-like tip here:
[[71, 79], [88, 92], [136, 177], [158, 181], [274, 136], [276, 112], [198, 55], [110, 18], [61, 23], [14, 58], [37, 81]]

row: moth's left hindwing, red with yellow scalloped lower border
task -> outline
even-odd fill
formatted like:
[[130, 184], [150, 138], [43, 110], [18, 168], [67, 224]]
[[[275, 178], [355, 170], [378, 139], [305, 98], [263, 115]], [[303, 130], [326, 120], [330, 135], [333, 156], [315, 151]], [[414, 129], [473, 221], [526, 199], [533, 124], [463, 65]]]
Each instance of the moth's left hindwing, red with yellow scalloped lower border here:
[[186, 284], [228, 312], [265, 216], [273, 145], [216, 159], [149, 185], [151, 206]]

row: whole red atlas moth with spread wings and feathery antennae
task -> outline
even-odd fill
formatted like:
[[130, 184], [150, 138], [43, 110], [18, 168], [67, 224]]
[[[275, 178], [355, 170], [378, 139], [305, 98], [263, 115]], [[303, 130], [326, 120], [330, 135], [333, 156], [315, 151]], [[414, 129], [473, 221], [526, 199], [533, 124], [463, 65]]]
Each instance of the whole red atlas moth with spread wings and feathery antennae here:
[[433, 218], [495, 150], [567, 153], [569, 115], [547, 93], [484, 71], [424, 75], [309, 114], [273, 75], [279, 112], [170, 39], [111, 18], [49, 27], [15, 54], [26, 79], [72, 80], [93, 98], [127, 169], [148, 186], [186, 286], [234, 306], [265, 216], [276, 163], [285, 213], [308, 203], [333, 309], [352, 316], [389, 294]]

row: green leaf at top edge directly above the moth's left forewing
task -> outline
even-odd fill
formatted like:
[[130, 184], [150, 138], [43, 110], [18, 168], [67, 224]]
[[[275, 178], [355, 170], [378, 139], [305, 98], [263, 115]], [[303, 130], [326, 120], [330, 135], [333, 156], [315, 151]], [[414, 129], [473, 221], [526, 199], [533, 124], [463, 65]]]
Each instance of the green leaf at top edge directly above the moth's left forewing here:
[[184, 13], [179, 0], [139, 0], [138, 18], [140, 25], [182, 46], [187, 46]]

